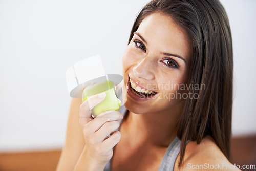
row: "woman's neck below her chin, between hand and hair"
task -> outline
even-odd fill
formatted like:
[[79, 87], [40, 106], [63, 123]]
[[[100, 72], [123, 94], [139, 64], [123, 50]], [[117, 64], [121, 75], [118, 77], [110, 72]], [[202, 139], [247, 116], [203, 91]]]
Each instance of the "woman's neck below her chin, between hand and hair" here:
[[158, 113], [135, 114], [129, 111], [126, 134], [137, 145], [167, 147], [177, 136], [177, 125], [183, 108]]

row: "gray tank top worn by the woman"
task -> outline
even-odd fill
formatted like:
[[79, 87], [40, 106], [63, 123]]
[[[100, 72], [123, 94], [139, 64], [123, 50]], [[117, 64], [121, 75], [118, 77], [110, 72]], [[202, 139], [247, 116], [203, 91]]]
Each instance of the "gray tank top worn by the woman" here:
[[[117, 90], [116, 93], [117, 93], [117, 97], [122, 101], [122, 89]], [[124, 118], [124, 115], [127, 112], [127, 109], [125, 108], [125, 106], [124, 105], [120, 106], [118, 111], [123, 115], [123, 118]], [[119, 120], [119, 123], [121, 124], [121, 120]], [[117, 129], [117, 130], [119, 130], [119, 129]], [[161, 161], [158, 171], [174, 170], [174, 164], [175, 164], [176, 158], [180, 152], [180, 143], [181, 143], [181, 141], [179, 140], [178, 137], [176, 137], [173, 140], [173, 142], [169, 144], [169, 146], [163, 156], [163, 160]], [[109, 162], [106, 164], [104, 171], [111, 171], [111, 169], [110, 169], [111, 168], [111, 160], [112, 159], [110, 159]]]

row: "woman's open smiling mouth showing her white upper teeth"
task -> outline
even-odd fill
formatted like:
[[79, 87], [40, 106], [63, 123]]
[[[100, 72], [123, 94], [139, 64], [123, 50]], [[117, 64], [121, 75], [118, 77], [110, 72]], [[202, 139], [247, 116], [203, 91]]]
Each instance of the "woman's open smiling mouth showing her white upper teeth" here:
[[141, 88], [138, 86], [133, 80], [129, 77], [128, 88], [131, 89], [131, 91], [140, 98], [150, 98], [157, 94], [157, 92], [146, 90], [144, 88]]

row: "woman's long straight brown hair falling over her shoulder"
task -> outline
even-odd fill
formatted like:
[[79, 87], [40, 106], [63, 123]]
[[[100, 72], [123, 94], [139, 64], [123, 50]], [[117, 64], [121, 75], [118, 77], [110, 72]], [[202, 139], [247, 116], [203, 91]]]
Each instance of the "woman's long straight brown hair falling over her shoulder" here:
[[198, 98], [186, 99], [178, 123], [180, 162], [188, 140], [198, 144], [206, 135], [216, 141], [229, 159], [233, 94], [233, 53], [228, 17], [218, 0], [153, 0], [138, 14], [129, 42], [142, 20], [153, 13], [171, 16], [183, 28], [191, 43], [189, 88]]

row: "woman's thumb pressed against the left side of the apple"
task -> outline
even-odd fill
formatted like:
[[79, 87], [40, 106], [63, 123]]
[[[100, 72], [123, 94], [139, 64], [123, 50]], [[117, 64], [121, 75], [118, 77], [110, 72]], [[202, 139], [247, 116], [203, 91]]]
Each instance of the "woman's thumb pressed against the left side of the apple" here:
[[101, 103], [106, 97], [106, 93], [96, 94], [80, 105], [80, 124], [84, 125], [90, 122], [93, 118], [91, 117], [92, 109], [99, 103]]

